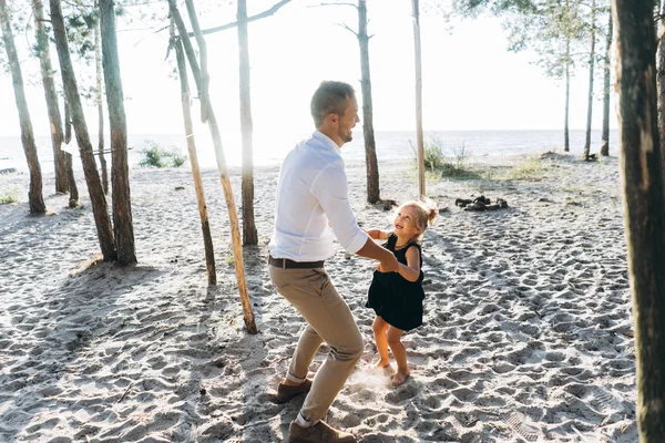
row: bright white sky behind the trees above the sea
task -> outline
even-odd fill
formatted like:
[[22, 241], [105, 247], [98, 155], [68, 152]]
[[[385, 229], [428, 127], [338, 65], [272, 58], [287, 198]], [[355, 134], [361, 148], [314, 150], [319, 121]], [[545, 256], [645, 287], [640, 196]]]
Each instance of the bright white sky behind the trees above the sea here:
[[[249, 16], [273, 4], [248, 1]], [[164, 18], [166, 2], [154, 3]], [[294, 0], [275, 16], [249, 24], [252, 111], [258, 137], [290, 137], [314, 128], [309, 100], [321, 80], [351, 83], [360, 99], [360, 55], [356, 37], [356, 9], [345, 6], [308, 7]], [[235, 11], [203, 11], [202, 28], [234, 20]], [[184, 7], [183, 7], [184, 12]], [[133, 12], [130, 10], [130, 13]], [[415, 50], [411, 2], [368, 0], [369, 56], [376, 131], [415, 131]], [[132, 28], [142, 28], [136, 21]], [[125, 27], [126, 28], [126, 27]], [[180, 84], [174, 60], [165, 60], [167, 31], [119, 33], [127, 131], [131, 134], [184, 133]], [[30, 35], [16, 37], [18, 44]], [[507, 50], [505, 32], [498, 19], [446, 22], [433, 12], [421, 17], [422, 103], [426, 131], [562, 130], [564, 85], [545, 78], [532, 64], [530, 52]], [[223, 137], [239, 137], [238, 49], [235, 29], [207, 37], [211, 96]], [[21, 48], [19, 48], [21, 50]], [[2, 54], [4, 58], [4, 54]], [[28, 59], [27, 51], [21, 53]], [[54, 49], [52, 58], [55, 61]], [[173, 54], [172, 54], [173, 59]], [[76, 72], [85, 69], [80, 66]], [[30, 74], [32, 72], [32, 74]], [[38, 65], [24, 61], [23, 75], [35, 135], [48, 135], [43, 92], [37, 82]], [[31, 76], [32, 75], [32, 76]], [[596, 81], [596, 89], [601, 82]], [[191, 85], [194, 86], [193, 84]], [[571, 128], [586, 125], [587, 72], [580, 70], [571, 89]], [[602, 102], [594, 102], [593, 127], [600, 128]], [[616, 97], [613, 97], [614, 102]], [[360, 100], [359, 100], [360, 101]], [[0, 73], [0, 136], [20, 133], [11, 78]], [[96, 111], [86, 106], [88, 127], [96, 131]], [[612, 106], [611, 126], [616, 127]], [[194, 115], [198, 116], [197, 102]], [[197, 124], [195, 133], [207, 128]]]

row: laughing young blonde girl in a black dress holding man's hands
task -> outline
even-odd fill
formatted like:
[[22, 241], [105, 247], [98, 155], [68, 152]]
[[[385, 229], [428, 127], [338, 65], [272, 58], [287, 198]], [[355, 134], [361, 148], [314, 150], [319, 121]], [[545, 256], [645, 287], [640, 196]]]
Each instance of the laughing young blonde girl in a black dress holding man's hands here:
[[374, 272], [369, 287], [367, 308], [377, 313], [372, 329], [379, 361], [377, 368], [390, 369], [388, 347], [397, 361], [392, 384], [402, 384], [410, 374], [407, 350], [400, 338], [405, 331], [422, 324], [422, 259], [420, 239], [437, 217], [431, 202], [407, 202], [397, 209], [392, 231], [367, 230], [374, 239], [388, 239], [382, 246], [390, 249], [399, 261], [397, 272], [381, 272], [380, 265]]

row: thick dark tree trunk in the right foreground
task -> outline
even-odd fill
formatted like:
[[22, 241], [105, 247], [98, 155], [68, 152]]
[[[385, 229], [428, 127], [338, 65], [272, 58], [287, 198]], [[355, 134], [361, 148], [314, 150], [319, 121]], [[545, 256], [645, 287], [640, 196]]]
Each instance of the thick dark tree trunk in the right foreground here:
[[613, 0], [624, 219], [635, 318], [641, 441], [665, 435], [665, 198], [656, 105], [653, 1]]

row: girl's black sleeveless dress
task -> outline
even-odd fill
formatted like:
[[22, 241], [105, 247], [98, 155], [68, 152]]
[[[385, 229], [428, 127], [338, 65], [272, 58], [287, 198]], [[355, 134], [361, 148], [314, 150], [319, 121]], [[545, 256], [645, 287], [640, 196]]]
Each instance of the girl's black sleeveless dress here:
[[[418, 243], [411, 243], [403, 248], [395, 250], [397, 236], [391, 234], [382, 246], [392, 251], [397, 260], [407, 265], [407, 249], [418, 248], [420, 267], [422, 268], [422, 251]], [[377, 316], [381, 316], [390, 326], [403, 331], [422, 324], [422, 269], [416, 281], [409, 281], [398, 272], [379, 272], [375, 270], [366, 308], [372, 308]]]

